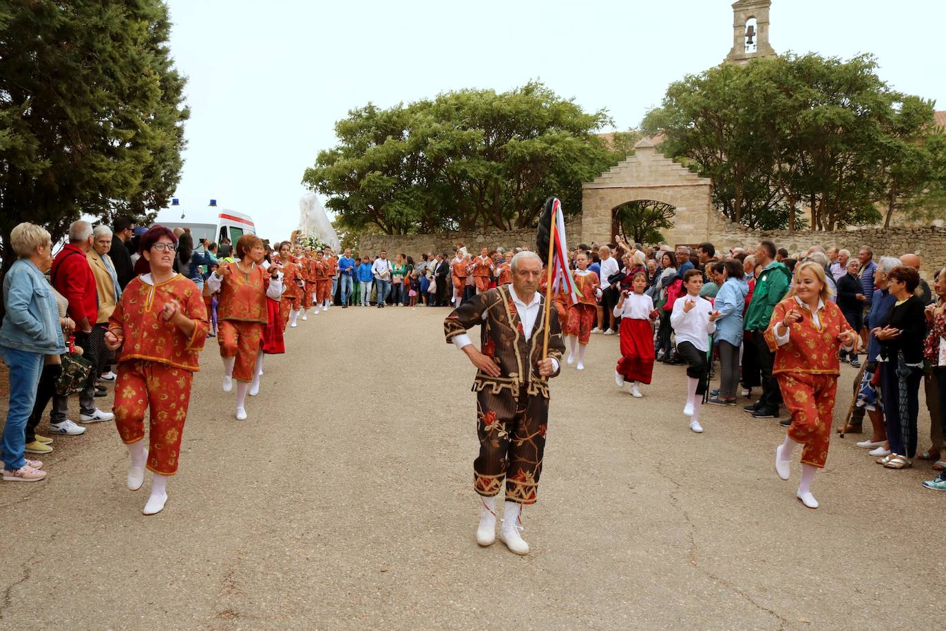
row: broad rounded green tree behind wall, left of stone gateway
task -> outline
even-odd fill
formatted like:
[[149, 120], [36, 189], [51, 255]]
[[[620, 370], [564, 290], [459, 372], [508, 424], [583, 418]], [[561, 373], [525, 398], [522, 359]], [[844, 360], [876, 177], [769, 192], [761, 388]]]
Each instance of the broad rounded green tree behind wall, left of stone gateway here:
[[608, 123], [537, 82], [388, 110], [369, 103], [336, 124], [339, 144], [319, 153], [303, 183], [354, 231], [526, 227], [550, 194], [579, 213], [581, 183], [624, 157], [594, 134]]

